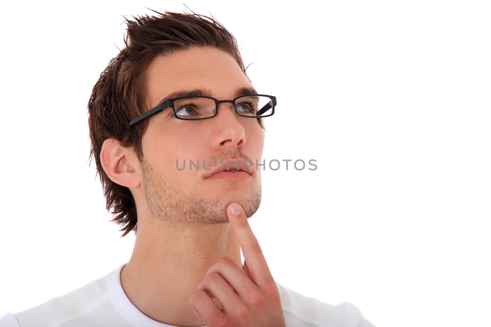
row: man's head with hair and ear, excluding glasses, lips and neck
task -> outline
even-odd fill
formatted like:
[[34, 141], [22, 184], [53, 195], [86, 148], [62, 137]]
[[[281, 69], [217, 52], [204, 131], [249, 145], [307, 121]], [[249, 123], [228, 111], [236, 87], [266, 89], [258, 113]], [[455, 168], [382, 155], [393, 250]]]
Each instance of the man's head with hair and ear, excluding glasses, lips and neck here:
[[[252, 88], [237, 42], [222, 25], [198, 14], [158, 14], [127, 20], [127, 47], [101, 74], [88, 103], [90, 155], [122, 236], [136, 231], [137, 212], [152, 220], [220, 224], [228, 222], [231, 201], [250, 217], [261, 200], [255, 166], [264, 144], [260, 119], [238, 116], [221, 103], [211, 119], [178, 120], [167, 108], [129, 126], [178, 90], [203, 88], [217, 100], [232, 100], [237, 89]], [[220, 159], [250, 159], [252, 175], [208, 179], [212, 171], [203, 170], [203, 159], [212, 170]], [[176, 160], [186, 169], [177, 169]], [[199, 160], [199, 170], [190, 170], [190, 160]]]

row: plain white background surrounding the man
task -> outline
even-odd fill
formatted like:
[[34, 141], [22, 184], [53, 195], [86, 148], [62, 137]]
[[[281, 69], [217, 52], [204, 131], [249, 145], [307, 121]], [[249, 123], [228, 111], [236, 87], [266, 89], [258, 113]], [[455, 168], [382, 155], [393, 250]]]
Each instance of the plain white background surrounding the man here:
[[[274, 1], [276, 2], [276, 1]], [[185, 1], [237, 38], [277, 97], [249, 220], [276, 281], [377, 327], [490, 326], [487, 1]], [[130, 258], [109, 220], [87, 102], [126, 15], [179, 1], [2, 5], [0, 315]], [[309, 116], [310, 115], [310, 116]], [[244, 258], [243, 258], [244, 260]]]

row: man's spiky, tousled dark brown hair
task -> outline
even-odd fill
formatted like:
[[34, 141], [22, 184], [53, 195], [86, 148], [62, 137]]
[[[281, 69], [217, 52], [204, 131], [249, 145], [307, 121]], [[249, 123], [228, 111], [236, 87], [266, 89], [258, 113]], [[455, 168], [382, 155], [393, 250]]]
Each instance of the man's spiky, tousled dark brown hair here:
[[[181, 14], [152, 11], [160, 16], [133, 16], [135, 21], [129, 21], [125, 17], [126, 48], [109, 61], [95, 83], [88, 101], [91, 141], [89, 159], [94, 156], [96, 177], [99, 173], [106, 209], [109, 211], [113, 207], [111, 214], [114, 218], [110, 221], [123, 226], [119, 230], [124, 231], [120, 237], [131, 230], [135, 230], [136, 234], [136, 203], [128, 187], [113, 182], [107, 176], [101, 165], [100, 154], [104, 141], [115, 138], [121, 146], [133, 149], [138, 161], [142, 162], [141, 140], [149, 120], [133, 127], [129, 126], [129, 122], [150, 109], [146, 109], [145, 105], [145, 81], [146, 69], [151, 61], [159, 55], [172, 54], [193, 46], [215, 47], [229, 53], [250, 82], [237, 40], [213, 15], [210, 18], [194, 12]], [[264, 129], [262, 120], [258, 119], [258, 122]]]

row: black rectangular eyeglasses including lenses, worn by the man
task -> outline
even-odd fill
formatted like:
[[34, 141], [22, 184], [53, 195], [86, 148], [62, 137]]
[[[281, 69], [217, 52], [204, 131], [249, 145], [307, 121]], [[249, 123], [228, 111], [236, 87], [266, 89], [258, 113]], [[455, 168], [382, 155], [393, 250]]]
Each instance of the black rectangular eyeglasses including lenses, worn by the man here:
[[218, 105], [228, 102], [230, 109], [241, 117], [263, 118], [273, 116], [276, 97], [266, 94], [249, 94], [233, 100], [218, 101], [210, 97], [182, 97], [164, 101], [130, 122], [130, 127], [158, 114], [167, 108], [172, 108], [174, 116], [182, 120], [210, 119], [218, 115]]

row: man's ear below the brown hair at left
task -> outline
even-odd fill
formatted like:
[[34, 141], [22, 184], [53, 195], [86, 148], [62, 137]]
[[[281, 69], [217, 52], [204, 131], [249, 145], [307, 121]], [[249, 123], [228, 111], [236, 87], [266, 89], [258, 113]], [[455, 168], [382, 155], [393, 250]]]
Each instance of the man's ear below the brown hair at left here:
[[[101, 164], [109, 179], [116, 184], [128, 188], [136, 188], [141, 182], [137, 170], [139, 168], [133, 151], [122, 147], [118, 140], [106, 139], [101, 149]], [[138, 169], [139, 170], [139, 169]]]

